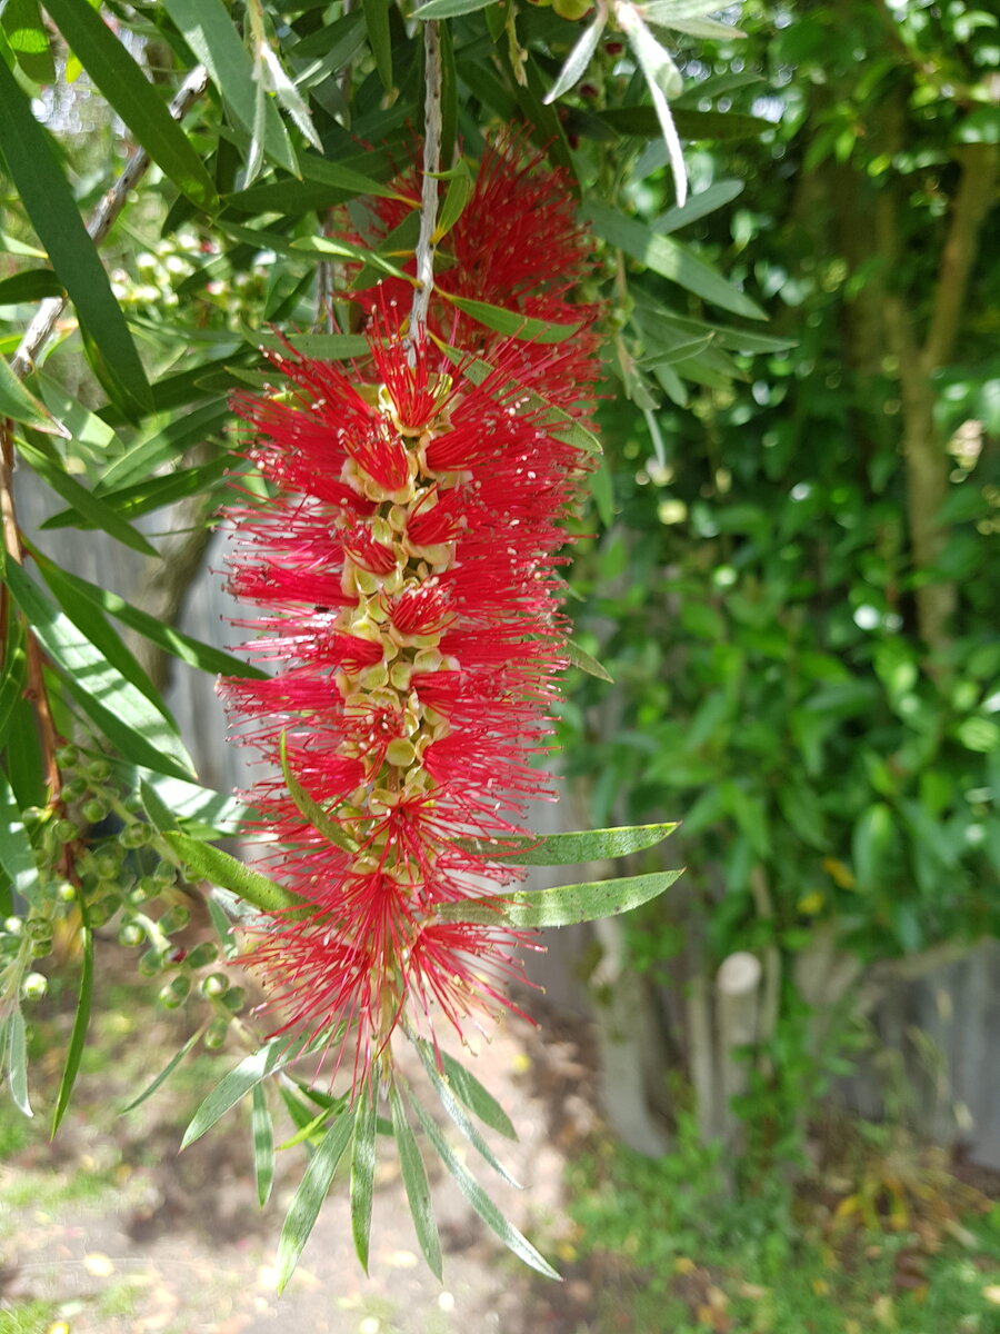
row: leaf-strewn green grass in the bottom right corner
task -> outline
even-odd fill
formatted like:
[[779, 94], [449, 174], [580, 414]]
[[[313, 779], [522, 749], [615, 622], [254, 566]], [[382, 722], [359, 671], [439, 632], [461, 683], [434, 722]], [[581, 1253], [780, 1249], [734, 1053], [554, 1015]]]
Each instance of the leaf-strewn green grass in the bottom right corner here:
[[595, 1334], [1000, 1334], [1000, 1206], [959, 1213], [967, 1194], [935, 1170], [871, 1226], [853, 1202], [880, 1201], [872, 1162], [839, 1194], [764, 1181], [733, 1199], [691, 1138], [569, 1170], [577, 1258], [607, 1294]]

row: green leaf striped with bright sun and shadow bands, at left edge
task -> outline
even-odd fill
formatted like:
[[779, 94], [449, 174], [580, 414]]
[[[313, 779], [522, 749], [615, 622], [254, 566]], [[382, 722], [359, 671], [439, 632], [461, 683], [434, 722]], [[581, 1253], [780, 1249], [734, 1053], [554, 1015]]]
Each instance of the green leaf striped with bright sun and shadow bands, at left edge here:
[[108, 739], [136, 763], [181, 778], [193, 775], [176, 727], [12, 560], [7, 562], [7, 583], [67, 687]]

